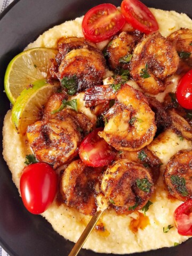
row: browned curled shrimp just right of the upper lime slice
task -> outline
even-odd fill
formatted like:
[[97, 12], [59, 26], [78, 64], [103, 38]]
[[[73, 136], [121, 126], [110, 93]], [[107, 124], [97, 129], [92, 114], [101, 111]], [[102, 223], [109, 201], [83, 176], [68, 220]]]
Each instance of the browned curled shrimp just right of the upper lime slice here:
[[106, 74], [106, 61], [102, 53], [89, 49], [71, 50], [61, 61], [59, 78], [76, 83], [77, 92], [102, 83]]

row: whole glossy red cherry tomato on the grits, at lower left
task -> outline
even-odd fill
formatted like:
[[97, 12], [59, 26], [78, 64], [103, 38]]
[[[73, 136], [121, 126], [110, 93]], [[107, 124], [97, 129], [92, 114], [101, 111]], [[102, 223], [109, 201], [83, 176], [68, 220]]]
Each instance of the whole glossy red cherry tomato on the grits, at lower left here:
[[49, 164], [30, 164], [21, 175], [20, 190], [27, 210], [40, 214], [53, 202], [57, 192], [57, 174]]

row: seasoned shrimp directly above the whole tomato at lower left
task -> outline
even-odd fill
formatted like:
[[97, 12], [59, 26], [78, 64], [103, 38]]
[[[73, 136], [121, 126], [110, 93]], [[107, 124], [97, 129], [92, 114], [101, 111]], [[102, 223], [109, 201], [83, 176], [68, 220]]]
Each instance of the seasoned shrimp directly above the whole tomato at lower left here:
[[65, 109], [57, 118], [29, 125], [27, 138], [38, 161], [57, 168], [78, 154], [82, 134], [76, 118]]

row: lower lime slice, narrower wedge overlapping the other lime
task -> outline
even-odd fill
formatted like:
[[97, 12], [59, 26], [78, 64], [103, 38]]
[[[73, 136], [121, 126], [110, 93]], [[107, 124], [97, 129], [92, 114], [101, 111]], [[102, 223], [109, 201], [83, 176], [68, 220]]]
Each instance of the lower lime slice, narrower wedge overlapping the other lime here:
[[21, 92], [12, 109], [12, 122], [19, 134], [25, 134], [27, 126], [41, 118], [43, 105], [59, 85], [59, 83], [47, 84], [43, 79], [34, 82]]

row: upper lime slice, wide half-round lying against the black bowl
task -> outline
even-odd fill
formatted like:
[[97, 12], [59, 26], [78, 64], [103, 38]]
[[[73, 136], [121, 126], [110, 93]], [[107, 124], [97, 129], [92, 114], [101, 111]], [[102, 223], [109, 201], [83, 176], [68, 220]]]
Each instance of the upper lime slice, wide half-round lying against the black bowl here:
[[49, 48], [33, 48], [21, 52], [9, 63], [5, 73], [5, 92], [14, 104], [18, 95], [34, 81], [47, 78], [51, 66], [50, 59], [57, 50]]

